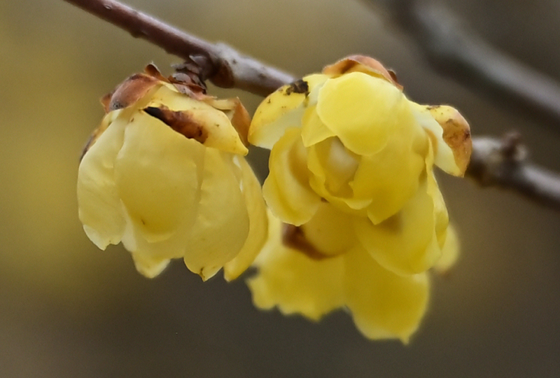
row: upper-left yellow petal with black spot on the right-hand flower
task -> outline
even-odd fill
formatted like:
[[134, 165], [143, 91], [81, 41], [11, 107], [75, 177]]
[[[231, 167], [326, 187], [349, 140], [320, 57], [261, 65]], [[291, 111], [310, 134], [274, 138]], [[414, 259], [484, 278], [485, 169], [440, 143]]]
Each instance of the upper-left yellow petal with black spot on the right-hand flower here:
[[309, 75], [270, 94], [255, 111], [249, 127], [249, 142], [271, 149], [288, 127], [300, 127], [309, 92], [327, 78], [322, 74]]

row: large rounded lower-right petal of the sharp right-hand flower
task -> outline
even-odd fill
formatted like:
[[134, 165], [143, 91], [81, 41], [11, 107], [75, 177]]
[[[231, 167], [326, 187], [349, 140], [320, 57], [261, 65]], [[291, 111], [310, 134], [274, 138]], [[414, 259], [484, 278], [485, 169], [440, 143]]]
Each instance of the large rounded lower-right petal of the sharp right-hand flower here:
[[440, 258], [434, 204], [427, 193], [426, 181], [398, 214], [377, 225], [367, 218], [355, 218], [355, 226], [366, 250], [391, 272], [424, 272]]

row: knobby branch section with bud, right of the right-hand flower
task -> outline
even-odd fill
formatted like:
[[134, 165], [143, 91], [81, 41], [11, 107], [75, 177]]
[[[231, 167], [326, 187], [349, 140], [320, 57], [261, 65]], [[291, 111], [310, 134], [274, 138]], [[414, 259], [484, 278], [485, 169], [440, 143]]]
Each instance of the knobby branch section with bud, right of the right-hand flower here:
[[521, 137], [515, 132], [502, 139], [472, 140], [472, 156], [465, 176], [480, 186], [497, 186], [560, 211], [560, 176], [527, 160]]

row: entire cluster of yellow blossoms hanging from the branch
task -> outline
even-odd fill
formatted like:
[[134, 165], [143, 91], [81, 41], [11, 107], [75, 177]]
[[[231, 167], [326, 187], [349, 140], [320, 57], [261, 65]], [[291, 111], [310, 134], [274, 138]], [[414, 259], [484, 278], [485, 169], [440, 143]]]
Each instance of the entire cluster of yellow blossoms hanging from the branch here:
[[[433, 165], [460, 176], [468, 164], [457, 111], [410, 102], [359, 56], [281, 87], [250, 127], [237, 100], [153, 68], [106, 108], [78, 173], [80, 219], [99, 248], [122, 241], [146, 276], [183, 258], [203, 279], [221, 267], [235, 279], [254, 260], [260, 308], [311, 319], [346, 308], [372, 339], [416, 330], [428, 269], [458, 248], [433, 176]], [[268, 215], [246, 139], [272, 150]]]

